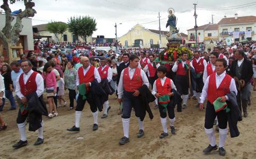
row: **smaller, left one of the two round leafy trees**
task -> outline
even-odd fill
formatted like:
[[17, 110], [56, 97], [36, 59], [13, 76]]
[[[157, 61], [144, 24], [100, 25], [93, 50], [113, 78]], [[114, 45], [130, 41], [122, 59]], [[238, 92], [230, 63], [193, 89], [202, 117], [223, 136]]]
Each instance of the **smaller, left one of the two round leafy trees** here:
[[[63, 38], [63, 34], [67, 30], [67, 27], [68, 25], [63, 22], [50, 22], [46, 25], [46, 29], [50, 33], [54, 33], [55, 37], [58, 39], [58, 42], [60, 42], [61, 39]], [[59, 35], [61, 37], [60, 39], [59, 39]]]

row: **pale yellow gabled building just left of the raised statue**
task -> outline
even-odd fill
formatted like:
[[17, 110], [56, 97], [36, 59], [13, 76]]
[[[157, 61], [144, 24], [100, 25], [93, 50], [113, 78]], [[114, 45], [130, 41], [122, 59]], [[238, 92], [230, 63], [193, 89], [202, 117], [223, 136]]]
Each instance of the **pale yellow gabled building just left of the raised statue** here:
[[[161, 47], [166, 47], [166, 31], [161, 31]], [[182, 37], [187, 38], [188, 35], [181, 33]], [[125, 35], [118, 39], [119, 43], [125, 48], [140, 47], [140, 48], [158, 48], [160, 41], [159, 31], [146, 29], [142, 25], [135, 25]]]

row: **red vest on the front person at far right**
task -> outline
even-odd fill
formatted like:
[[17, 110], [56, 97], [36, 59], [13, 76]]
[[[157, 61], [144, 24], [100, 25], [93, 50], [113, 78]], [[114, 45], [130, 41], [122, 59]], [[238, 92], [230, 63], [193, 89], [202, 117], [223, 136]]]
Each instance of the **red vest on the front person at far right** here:
[[232, 77], [228, 74], [225, 75], [224, 79], [220, 83], [219, 87], [216, 87], [216, 73], [213, 73], [209, 77], [208, 85], [208, 101], [213, 104], [213, 102], [218, 98], [225, 96], [226, 93], [229, 93], [229, 85], [231, 83]]

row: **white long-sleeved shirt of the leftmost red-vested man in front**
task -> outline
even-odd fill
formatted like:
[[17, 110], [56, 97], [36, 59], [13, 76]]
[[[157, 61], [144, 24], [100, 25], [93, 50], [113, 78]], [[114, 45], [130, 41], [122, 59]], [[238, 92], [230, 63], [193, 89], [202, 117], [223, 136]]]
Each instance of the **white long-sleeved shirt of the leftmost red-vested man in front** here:
[[[26, 73], [23, 74], [24, 83], [27, 83], [29, 77], [31, 76], [31, 74], [33, 72], [34, 72], [33, 70], [30, 70], [27, 74]], [[16, 80], [15, 93], [19, 98], [22, 98], [22, 97], [24, 97], [24, 95], [22, 95], [22, 93], [21, 93], [21, 86], [20, 86], [19, 79], [20, 79], [20, 76]], [[36, 83], [37, 83], [37, 91], [36, 91], [37, 96], [40, 97], [43, 93], [44, 86], [43, 86], [43, 78], [42, 78], [41, 74], [39, 74], [39, 73], [37, 73], [37, 76], [36, 76]]]

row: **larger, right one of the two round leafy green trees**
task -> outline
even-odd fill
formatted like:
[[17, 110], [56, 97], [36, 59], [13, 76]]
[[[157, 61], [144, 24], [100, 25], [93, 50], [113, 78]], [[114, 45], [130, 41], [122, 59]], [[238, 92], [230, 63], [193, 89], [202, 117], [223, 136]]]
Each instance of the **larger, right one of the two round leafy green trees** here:
[[68, 30], [76, 36], [81, 36], [86, 42], [86, 36], [91, 36], [96, 31], [95, 19], [90, 16], [70, 17], [68, 20]]

